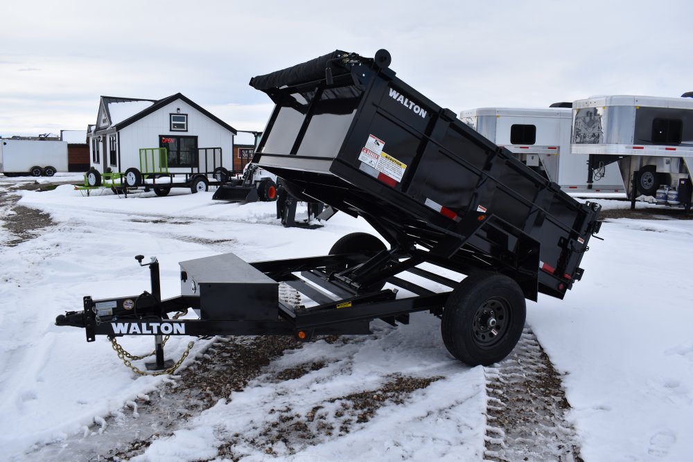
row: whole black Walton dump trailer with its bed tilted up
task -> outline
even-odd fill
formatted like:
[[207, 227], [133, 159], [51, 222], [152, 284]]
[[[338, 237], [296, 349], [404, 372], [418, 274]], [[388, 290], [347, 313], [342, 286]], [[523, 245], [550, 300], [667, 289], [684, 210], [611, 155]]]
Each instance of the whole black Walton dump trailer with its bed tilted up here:
[[[412, 312], [441, 318], [450, 353], [493, 364], [516, 345], [525, 299], [563, 299], [583, 275], [599, 206], [579, 203], [389, 69], [390, 56], [335, 51], [252, 78], [275, 107], [254, 163], [299, 200], [363, 217], [329, 255], [180, 263], [181, 296], [152, 290], [83, 301], [59, 325], [96, 335], [362, 334]], [[383, 242], [385, 240], [387, 245]], [[138, 257], [141, 263], [141, 256]], [[452, 276], [452, 275], [455, 276]], [[438, 290], [432, 290], [438, 287]], [[169, 319], [193, 308], [199, 319]]]

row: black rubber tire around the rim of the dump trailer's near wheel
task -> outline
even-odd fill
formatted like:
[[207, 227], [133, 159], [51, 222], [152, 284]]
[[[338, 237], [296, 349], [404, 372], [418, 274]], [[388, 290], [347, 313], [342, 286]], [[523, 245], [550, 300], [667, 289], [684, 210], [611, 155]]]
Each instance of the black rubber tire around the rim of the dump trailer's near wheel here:
[[[509, 324], [498, 343], [480, 345], [474, 335], [473, 321], [486, 301], [507, 301]], [[464, 278], [445, 303], [441, 321], [443, 343], [451, 355], [469, 366], [489, 366], [501, 361], [515, 348], [525, 327], [527, 307], [520, 286], [508, 276], [480, 272]]]

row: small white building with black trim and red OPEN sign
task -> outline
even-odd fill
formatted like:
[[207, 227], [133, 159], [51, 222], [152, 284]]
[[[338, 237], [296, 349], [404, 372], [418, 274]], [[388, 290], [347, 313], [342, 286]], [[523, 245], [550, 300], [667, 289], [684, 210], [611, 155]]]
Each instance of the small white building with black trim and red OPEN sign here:
[[140, 150], [166, 148], [170, 172], [232, 170], [236, 130], [177, 93], [161, 100], [101, 96], [89, 130], [89, 166], [98, 172], [142, 168]]

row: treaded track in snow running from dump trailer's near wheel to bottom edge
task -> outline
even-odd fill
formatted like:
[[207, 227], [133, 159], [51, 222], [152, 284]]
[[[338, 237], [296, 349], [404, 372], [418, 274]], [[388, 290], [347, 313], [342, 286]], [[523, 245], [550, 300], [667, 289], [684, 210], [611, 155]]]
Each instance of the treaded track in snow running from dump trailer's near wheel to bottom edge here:
[[485, 373], [485, 460], [582, 461], [561, 379], [531, 329]]

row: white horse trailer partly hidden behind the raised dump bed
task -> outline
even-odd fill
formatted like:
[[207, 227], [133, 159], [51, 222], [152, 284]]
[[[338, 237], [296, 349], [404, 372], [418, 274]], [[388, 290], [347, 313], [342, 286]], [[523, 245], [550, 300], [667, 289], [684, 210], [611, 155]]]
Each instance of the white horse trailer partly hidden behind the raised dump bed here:
[[625, 192], [617, 166], [606, 166], [593, 175], [588, 155], [570, 155], [569, 107], [483, 107], [463, 111], [459, 118], [568, 193]]

